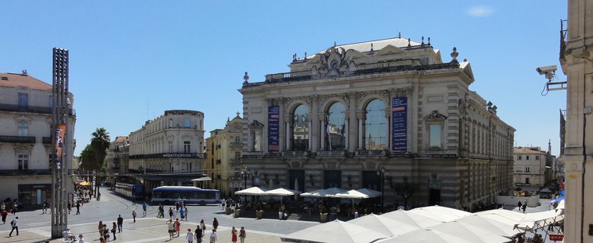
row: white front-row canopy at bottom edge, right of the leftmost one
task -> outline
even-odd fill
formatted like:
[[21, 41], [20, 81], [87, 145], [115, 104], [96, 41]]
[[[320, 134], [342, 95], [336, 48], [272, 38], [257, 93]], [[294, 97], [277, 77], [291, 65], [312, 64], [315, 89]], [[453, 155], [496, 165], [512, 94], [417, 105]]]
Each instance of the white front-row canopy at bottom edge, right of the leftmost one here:
[[432, 228], [419, 229], [394, 238], [379, 241], [381, 243], [503, 243], [511, 239], [482, 229], [468, 223], [451, 221], [433, 226]]

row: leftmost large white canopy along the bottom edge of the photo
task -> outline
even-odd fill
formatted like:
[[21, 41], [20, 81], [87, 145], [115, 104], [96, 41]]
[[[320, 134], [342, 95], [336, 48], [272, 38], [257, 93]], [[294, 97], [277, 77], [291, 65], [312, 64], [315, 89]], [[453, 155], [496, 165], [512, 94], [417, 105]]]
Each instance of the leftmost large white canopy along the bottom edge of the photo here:
[[282, 236], [282, 242], [340, 242], [340, 243], [371, 243], [379, 239], [389, 238], [385, 234], [352, 223], [334, 220], [321, 223], [292, 234]]

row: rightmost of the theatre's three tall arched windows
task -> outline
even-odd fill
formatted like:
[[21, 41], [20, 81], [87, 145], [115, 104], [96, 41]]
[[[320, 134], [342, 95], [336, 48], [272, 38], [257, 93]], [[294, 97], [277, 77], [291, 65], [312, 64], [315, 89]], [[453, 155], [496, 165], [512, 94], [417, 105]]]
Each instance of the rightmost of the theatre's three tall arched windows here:
[[383, 101], [375, 99], [366, 105], [364, 134], [366, 150], [387, 149], [387, 119]]

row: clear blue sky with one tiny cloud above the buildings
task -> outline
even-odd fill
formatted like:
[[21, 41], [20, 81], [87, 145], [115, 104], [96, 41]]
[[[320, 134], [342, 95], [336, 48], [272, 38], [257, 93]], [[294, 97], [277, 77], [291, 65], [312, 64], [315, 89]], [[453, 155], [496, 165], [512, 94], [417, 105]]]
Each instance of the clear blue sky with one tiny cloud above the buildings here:
[[[564, 91], [540, 95], [538, 66], [559, 65], [566, 1], [2, 1], [0, 72], [51, 84], [52, 47], [70, 50], [75, 154], [96, 127], [111, 138], [164, 110], [205, 113], [207, 131], [242, 110], [243, 73], [287, 72], [292, 54], [338, 44], [431, 37], [472, 65], [470, 86], [517, 129], [518, 146], [559, 152]], [[560, 80], [566, 80], [561, 71]], [[209, 136], [209, 133], [206, 135]]]

